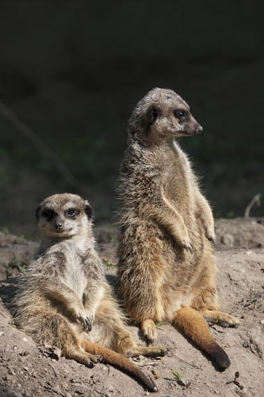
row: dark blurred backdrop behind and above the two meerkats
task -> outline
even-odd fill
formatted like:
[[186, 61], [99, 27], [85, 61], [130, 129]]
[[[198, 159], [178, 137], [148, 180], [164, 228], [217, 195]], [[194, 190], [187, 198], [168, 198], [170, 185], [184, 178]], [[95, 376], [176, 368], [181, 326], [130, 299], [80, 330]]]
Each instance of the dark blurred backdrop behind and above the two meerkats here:
[[38, 202], [64, 191], [110, 221], [126, 120], [156, 86], [204, 127], [181, 144], [214, 215], [242, 216], [264, 193], [262, 4], [0, 1], [0, 229], [34, 236]]

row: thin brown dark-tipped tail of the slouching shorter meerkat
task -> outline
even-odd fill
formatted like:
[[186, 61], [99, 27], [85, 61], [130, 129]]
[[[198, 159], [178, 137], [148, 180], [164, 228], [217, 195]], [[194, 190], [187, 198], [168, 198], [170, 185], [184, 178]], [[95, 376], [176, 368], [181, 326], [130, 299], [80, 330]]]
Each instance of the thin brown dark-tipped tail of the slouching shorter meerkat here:
[[144, 371], [142, 371], [138, 365], [135, 365], [129, 358], [122, 356], [121, 354], [108, 349], [107, 347], [100, 346], [88, 341], [82, 341], [82, 348], [90, 354], [98, 354], [103, 357], [103, 363], [114, 365], [115, 367], [129, 373], [142, 384], [144, 384], [149, 391], [158, 391], [156, 384], [154, 384], [151, 377], [149, 377]]

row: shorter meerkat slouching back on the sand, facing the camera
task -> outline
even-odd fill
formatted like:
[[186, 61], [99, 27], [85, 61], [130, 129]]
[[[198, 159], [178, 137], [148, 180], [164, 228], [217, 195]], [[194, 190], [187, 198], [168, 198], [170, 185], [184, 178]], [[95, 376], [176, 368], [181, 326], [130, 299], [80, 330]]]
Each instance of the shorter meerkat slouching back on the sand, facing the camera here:
[[126, 329], [94, 248], [89, 203], [78, 195], [52, 195], [41, 202], [37, 218], [43, 253], [20, 279], [13, 302], [17, 326], [67, 358], [88, 367], [103, 360], [157, 391], [125, 356], [162, 356], [166, 349], [137, 347]]

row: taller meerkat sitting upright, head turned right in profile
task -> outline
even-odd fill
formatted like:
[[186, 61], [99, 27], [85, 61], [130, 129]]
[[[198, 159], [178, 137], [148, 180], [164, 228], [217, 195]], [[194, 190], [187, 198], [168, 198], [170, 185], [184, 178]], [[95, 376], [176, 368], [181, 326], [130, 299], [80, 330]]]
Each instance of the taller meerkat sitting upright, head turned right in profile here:
[[175, 141], [202, 131], [172, 90], [155, 88], [135, 106], [119, 178], [117, 279], [124, 308], [145, 337], [154, 340], [155, 323], [169, 321], [225, 369], [229, 358], [205, 319], [239, 321], [219, 312], [212, 210]]

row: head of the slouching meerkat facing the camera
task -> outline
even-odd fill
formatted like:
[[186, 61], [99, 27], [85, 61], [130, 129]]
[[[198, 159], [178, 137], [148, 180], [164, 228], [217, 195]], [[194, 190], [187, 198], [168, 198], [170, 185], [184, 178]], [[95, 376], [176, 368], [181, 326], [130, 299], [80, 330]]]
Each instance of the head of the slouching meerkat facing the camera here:
[[71, 193], [47, 197], [36, 211], [40, 234], [52, 238], [87, 235], [91, 230], [91, 215], [89, 202]]

